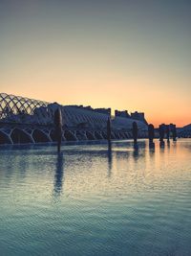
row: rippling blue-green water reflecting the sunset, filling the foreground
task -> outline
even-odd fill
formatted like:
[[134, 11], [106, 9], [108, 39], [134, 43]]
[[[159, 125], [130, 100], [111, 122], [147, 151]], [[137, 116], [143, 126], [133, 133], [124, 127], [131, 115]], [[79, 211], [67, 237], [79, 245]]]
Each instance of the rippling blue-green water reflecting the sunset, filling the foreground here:
[[191, 140], [0, 148], [0, 255], [191, 255]]

